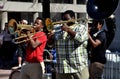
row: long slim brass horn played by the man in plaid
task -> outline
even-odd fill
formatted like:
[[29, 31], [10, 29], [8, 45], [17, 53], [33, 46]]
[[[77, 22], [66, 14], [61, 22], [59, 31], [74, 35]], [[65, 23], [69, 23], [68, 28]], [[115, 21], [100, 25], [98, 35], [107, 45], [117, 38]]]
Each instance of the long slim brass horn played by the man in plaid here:
[[53, 30], [54, 25], [56, 24], [64, 24], [64, 23], [69, 23], [69, 22], [79, 22], [79, 21], [85, 21], [87, 22], [88, 19], [85, 18], [81, 18], [81, 19], [76, 19], [76, 20], [68, 20], [68, 21], [60, 21], [60, 22], [52, 22], [50, 18], [46, 18], [45, 20], [45, 25], [46, 25], [46, 29], [50, 32]]

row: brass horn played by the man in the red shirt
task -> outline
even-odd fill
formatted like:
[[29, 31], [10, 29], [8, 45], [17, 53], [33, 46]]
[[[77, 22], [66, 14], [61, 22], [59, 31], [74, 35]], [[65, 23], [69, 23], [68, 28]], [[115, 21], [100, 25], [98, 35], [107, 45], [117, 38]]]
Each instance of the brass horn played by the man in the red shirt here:
[[32, 32], [33, 27], [31, 25], [26, 24], [18, 24], [15, 19], [11, 19], [8, 23], [9, 29], [11, 29], [11, 33], [16, 35], [16, 38], [13, 39], [13, 42], [16, 44], [24, 43], [28, 41], [27, 32], [29, 31], [31, 35], [34, 35], [34, 31]]

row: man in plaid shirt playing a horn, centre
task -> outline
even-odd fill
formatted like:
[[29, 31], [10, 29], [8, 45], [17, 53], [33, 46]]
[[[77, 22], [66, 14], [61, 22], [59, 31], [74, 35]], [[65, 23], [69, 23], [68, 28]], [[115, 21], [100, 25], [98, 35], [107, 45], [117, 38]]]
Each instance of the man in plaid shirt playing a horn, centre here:
[[[63, 20], [75, 20], [72, 10], [65, 11], [62, 16]], [[54, 31], [54, 36], [57, 36], [54, 37], [57, 52], [56, 79], [89, 79], [87, 26], [68, 22], [61, 26], [59, 33], [56, 32]]]

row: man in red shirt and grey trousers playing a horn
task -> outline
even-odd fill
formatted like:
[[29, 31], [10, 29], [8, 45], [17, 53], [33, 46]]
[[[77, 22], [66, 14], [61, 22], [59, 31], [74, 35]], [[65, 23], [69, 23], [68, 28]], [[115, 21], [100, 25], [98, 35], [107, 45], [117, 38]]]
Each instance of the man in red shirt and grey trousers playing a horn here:
[[21, 68], [20, 79], [42, 79], [45, 72], [43, 52], [47, 42], [43, 27], [43, 20], [38, 17], [33, 26], [35, 34], [31, 36], [27, 32], [29, 41], [27, 42], [25, 63]]

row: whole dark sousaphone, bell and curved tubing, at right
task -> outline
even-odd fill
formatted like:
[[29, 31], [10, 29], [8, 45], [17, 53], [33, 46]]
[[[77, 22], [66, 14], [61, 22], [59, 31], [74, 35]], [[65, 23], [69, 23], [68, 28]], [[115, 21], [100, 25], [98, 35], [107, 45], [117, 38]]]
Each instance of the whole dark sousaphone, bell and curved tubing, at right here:
[[[107, 47], [108, 48], [115, 36], [116, 24], [114, 14], [118, 6], [119, 0], [88, 0], [87, 13], [92, 19], [104, 19], [107, 31]], [[115, 15], [114, 15], [115, 16]]]

